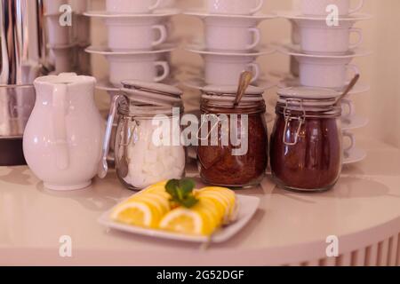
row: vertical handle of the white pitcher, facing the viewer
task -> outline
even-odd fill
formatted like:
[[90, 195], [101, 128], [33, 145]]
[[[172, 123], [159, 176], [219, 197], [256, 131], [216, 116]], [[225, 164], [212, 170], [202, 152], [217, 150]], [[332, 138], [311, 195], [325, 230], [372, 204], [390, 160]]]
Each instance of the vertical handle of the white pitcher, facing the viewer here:
[[52, 128], [56, 146], [56, 164], [59, 170], [67, 170], [69, 165], [69, 150], [66, 125], [66, 102], [68, 86], [65, 83], [56, 84], [52, 90]]

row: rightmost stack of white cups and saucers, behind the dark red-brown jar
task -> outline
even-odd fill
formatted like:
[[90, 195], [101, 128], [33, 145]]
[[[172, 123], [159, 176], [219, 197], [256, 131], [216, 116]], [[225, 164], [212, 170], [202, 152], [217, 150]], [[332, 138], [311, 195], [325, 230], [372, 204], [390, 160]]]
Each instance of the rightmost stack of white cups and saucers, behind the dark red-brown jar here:
[[[295, 0], [293, 3], [291, 12], [277, 12], [278, 16], [292, 22], [293, 32], [292, 43], [284, 43], [279, 51], [296, 60], [292, 60], [291, 75], [284, 78], [280, 87], [344, 90], [351, 78], [360, 74], [351, 61], [371, 53], [360, 48], [363, 31], [354, 28], [357, 21], [371, 18], [370, 15], [357, 13], [364, 0], [358, 0], [355, 8], [351, 8], [353, 2], [350, 0]], [[356, 138], [351, 130], [362, 128], [369, 121], [356, 115], [351, 98], [369, 89], [368, 85], [357, 83], [348, 97], [343, 99], [344, 163], [360, 162], [366, 156], [363, 150], [356, 147]]]

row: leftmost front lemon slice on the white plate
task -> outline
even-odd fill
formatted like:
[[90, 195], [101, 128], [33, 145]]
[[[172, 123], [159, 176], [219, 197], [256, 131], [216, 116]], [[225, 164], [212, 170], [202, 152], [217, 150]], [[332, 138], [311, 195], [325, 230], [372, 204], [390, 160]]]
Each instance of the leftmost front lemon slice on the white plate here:
[[119, 205], [112, 212], [111, 218], [126, 225], [156, 228], [161, 217], [148, 203], [130, 201]]

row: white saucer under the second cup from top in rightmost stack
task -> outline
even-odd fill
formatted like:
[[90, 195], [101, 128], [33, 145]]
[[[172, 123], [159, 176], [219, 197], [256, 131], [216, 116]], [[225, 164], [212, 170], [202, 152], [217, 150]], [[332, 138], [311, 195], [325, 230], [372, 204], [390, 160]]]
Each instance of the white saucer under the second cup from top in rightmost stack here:
[[364, 48], [356, 48], [354, 50], [348, 51], [346, 54], [311, 54], [301, 51], [300, 45], [289, 43], [284, 43], [281, 46], [277, 46], [276, 50], [286, 55], [315, 59], [353, 59], [356, 57], [363, 57], [372, 54], [372, 51], [365, 50]]

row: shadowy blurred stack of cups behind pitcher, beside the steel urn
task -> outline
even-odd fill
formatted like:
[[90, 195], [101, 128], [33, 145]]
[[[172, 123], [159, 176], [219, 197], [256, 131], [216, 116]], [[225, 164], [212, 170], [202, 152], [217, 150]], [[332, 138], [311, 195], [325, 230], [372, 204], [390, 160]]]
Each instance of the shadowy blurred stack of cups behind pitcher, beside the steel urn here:
[[83, 15], [86, 9], [86, 0], [44, 1], [47, 47], [54, 66], [53, 74], [91, 73], [90, 57], [84, 52], [90, 45], [90, 22]]

